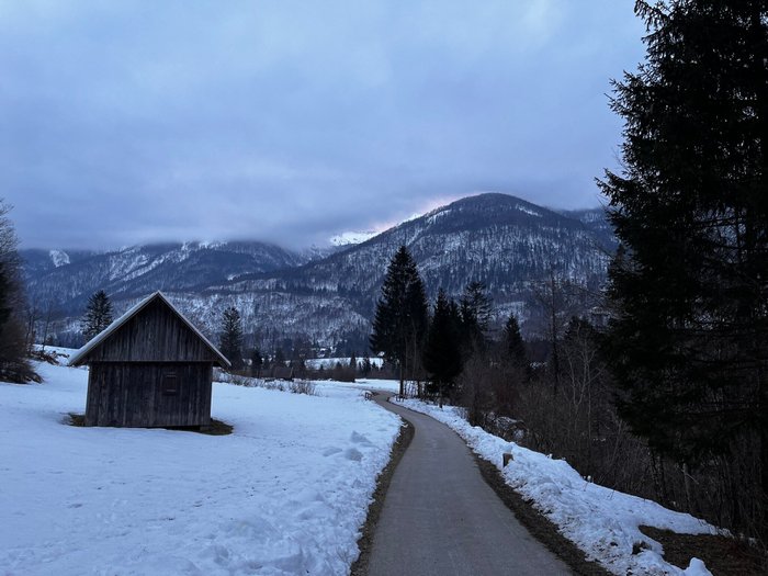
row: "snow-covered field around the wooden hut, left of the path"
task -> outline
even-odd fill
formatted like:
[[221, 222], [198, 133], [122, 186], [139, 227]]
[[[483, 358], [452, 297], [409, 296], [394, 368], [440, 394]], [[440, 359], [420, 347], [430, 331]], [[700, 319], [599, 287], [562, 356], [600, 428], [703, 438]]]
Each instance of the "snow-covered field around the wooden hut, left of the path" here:
[[0, 575], [345, 574], [399, 429], [361, 385], [214, 384], [230, 436], [76, 428], [87, 371], [0, 383]]

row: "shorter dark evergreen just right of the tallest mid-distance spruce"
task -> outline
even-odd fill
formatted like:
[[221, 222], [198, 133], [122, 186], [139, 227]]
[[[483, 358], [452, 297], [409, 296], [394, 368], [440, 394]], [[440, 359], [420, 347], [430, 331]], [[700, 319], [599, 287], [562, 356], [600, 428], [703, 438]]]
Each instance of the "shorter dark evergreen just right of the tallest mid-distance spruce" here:
[[430, 375], [432, 391], [440, 395], [442, 407], [443, 397], [451, 391], [463, 368], [460, 335], [451, 314], [451, 304], [442, 289], [438, 293], [434, 314], [427, 332], [423, 366]]

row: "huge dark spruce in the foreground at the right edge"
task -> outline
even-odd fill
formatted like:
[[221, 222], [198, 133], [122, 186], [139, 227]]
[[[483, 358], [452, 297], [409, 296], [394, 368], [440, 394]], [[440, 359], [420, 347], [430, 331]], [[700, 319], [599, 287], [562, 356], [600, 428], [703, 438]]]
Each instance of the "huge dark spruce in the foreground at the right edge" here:
[[689, 465], [754, 445], [765, 515], [768, 4], [639, 1], [635, 11], [646, 61], [614, 82], [623, 172], [600, 183], [623, 245], [608, 339], [621, 413]]

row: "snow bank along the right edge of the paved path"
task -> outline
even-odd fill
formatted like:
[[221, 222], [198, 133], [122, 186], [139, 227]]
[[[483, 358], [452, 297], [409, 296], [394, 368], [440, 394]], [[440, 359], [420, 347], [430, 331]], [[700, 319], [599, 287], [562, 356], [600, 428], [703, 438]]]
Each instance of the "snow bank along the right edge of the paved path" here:
[[[614, 574], [711, 576], [697, 558], [686, 571], [666, 563], [662, 545], [637, 528], [654, 526], [687, 534], [716, 533], [711, 524], [654, 501], [588, 483], [564, 460], [552, 460], [470, 426], [455, 407], [440, 409], [413, 399], [397, 404], [427, 414], [455, 430], [472, 450], [501, 471], [508, 485], [532, 499], [533, 506], [584, 550], [588, 558]], [[513, 460], [502, 468], [505, 452], [511, 452]], [[637, 554], [632, 553], [635, 545], [642, 549]]]

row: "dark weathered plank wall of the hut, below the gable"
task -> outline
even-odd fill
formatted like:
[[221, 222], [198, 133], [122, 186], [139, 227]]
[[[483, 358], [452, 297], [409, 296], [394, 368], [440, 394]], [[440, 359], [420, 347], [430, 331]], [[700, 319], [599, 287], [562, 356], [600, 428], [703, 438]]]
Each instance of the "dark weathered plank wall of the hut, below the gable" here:
[[[174, 395], [163, 389], [168, 374], [176, 374]], [[212, 376], [213, 365], [204, 362], [93, 363], [86, 426], [208, 426]]]

